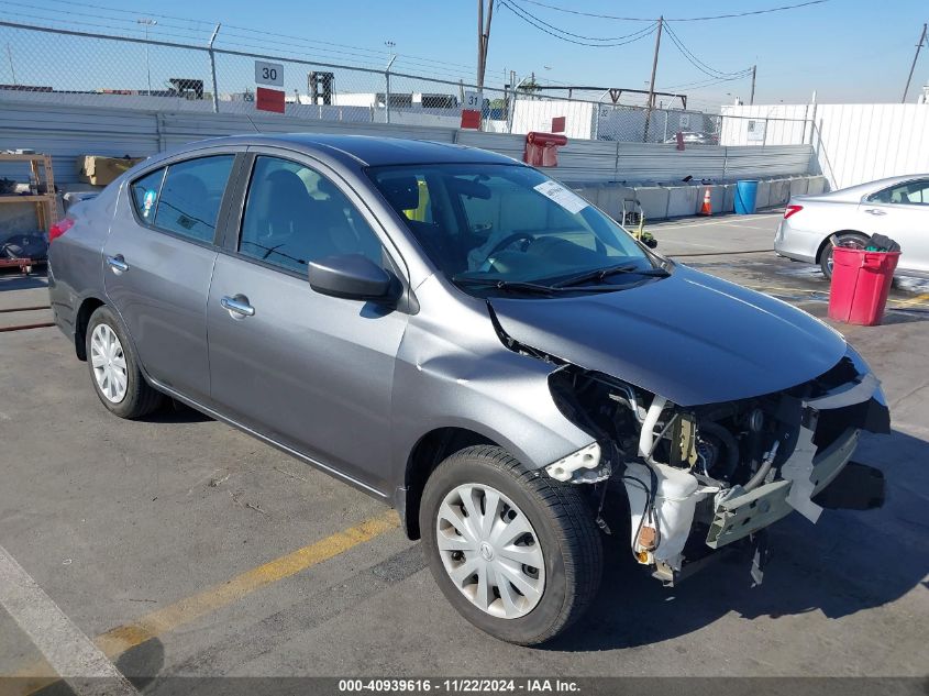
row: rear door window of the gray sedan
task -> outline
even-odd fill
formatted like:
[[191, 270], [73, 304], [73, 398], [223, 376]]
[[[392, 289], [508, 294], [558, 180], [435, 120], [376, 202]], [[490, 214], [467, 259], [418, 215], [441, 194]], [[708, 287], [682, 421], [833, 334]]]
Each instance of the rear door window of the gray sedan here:
[[156, 202], [155, 227], [212, 242], [233, 157], [218, 155], [169, 165]]

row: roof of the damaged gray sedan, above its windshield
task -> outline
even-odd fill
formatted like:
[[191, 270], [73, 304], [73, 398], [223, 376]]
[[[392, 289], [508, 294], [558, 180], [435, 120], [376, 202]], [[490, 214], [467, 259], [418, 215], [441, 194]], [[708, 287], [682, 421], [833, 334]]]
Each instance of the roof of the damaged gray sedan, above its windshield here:
[[188, 147], [264, 145], [297, 150], [309, 154], [327, 154], [345, 164], [384, 166], [405, 164], [515, 164], [516, 161], [477, 147], [402, 137], [373, 135], [338, 135], [328, 133], [281, 133], [232, 135], [191, 143]]

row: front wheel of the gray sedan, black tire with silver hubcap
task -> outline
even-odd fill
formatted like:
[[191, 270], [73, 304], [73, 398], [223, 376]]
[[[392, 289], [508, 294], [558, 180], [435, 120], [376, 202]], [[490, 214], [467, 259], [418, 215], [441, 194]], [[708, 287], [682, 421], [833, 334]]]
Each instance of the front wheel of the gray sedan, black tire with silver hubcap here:
[[439, 465], [423, 490], [420, 529], [452, 606], [511, 643], [551, 640], [600, 584], [600, 532], [580, 490], [500, 448], [467, 448]]

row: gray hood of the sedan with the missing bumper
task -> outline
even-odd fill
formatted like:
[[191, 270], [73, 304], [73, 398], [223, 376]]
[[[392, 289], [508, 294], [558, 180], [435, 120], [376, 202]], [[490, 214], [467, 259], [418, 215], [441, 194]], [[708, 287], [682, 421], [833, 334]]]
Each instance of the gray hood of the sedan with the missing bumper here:
[[848, 350], [841, 334], [806, 312], [681, 265], [616, 292], [490, 305], [520, 343], [679, 406], [786, 389], [818, 377]]

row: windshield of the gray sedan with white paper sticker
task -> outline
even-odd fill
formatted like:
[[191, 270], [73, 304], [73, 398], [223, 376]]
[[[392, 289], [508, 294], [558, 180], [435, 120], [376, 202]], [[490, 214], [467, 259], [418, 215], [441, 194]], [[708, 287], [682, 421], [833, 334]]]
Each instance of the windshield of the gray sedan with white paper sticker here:
[[432, 262], [468, 292], [612, 290], [665, 275], [609, 217], [535, 169], [406, 165], [368, 176]]

